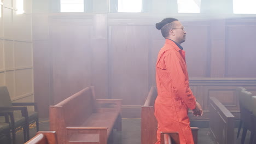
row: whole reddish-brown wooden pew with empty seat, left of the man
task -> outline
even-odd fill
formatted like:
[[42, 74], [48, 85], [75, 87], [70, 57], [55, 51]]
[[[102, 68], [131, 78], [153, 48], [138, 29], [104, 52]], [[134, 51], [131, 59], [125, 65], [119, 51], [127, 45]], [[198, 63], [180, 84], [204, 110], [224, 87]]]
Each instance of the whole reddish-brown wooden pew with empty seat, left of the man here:
[[86, 87], [50, 106], [50, 130], [61, 144], [106, 144], [114, 128], [121, 131], [120, 112], [120, 99], [95, 99], [94, 87]]

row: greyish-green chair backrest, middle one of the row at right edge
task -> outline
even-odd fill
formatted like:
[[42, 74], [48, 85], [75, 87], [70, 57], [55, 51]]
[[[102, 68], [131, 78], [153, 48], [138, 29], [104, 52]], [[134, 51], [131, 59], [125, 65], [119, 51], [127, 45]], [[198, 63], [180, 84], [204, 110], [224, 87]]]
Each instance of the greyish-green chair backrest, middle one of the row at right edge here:
[[241, 91], [241, 104], [249, 111], [252, 111], [252, 96], [251, 92]]

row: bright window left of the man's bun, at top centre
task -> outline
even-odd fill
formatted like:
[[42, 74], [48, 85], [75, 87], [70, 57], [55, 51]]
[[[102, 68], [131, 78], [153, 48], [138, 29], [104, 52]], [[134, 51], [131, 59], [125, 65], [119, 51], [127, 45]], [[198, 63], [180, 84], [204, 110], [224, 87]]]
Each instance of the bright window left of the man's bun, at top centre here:
[[142, 0], [118, 0], [119, 13], [141, 13]]

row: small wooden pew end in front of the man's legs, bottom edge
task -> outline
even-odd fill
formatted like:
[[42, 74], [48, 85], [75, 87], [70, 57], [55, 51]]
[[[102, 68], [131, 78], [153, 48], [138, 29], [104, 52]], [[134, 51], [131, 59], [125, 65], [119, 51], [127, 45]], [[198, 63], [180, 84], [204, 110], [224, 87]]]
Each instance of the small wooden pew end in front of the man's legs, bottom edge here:
[[161, 132], [160, 144], [179, 144], [178, 132]]

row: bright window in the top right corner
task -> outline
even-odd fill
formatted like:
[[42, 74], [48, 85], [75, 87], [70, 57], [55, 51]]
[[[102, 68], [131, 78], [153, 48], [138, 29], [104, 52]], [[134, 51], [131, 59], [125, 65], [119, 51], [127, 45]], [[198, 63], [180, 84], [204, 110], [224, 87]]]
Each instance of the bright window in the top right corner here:
[[256, 14], [255, 0], [233, 0], [234, 14]]

